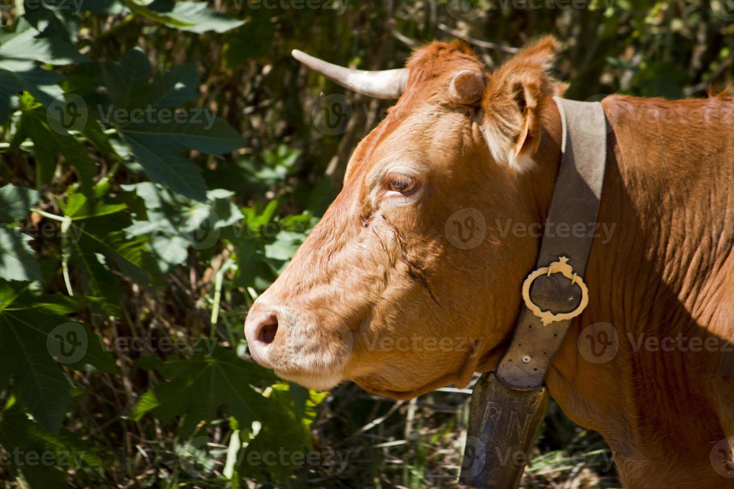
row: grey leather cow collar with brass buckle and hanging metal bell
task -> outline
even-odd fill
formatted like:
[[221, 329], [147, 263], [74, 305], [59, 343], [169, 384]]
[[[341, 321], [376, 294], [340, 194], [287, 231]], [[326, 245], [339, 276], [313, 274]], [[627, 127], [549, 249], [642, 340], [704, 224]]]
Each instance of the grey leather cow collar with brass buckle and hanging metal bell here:
[[[563, 157], [543, 232], [537, 270], [523, 284], [515, 336], [496, 372], [474, 386], [460, 482], [515, 489], [548, 409], [543, 386], [573, 317], [588, 303], [583, 275], [601, 199], [610, 132], [600, 103], [555, 98]], [[567, 226], [560, 232], [559, 225]], [[574, 228], [576, 224], [576, 228]], [[572, 232], [584, 226], [586, 232]], [[593, 224], [591, 224], [593, 225]], [[512, 454], [509, 462], [503, 454]], [[517, 460], [517, 454], [525, 454]]]

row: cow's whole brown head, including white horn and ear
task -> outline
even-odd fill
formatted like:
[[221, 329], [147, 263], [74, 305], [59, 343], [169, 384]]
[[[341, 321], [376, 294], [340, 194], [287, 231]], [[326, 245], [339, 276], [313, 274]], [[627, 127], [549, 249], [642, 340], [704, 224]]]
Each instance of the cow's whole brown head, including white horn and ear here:
[[357, 91], [402, 94], [252, 305], [255, 361], [314, 389], [355, 380], [399, 398], [494, 367], [560, 157], [554, 46], [540, 40], [494, 73], [461, 43], [432, 43], [404, 70], [377, 73], [294, 54]]

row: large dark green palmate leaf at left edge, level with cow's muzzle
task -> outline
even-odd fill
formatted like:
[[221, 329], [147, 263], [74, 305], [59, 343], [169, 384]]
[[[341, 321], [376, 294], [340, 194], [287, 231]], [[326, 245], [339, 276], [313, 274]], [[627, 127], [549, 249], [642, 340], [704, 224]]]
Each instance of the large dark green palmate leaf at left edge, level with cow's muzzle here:
[[0, 281], [0, 386], [12, 378], [18, 400], [43, 427], [56, 432], [71, 402], [70, 383], [59, 362], [104, 372], [117, 368], [96, 335], [79, 323], [69, 325], [62, 315], [78, 303], [33, 295], [30, 288]]

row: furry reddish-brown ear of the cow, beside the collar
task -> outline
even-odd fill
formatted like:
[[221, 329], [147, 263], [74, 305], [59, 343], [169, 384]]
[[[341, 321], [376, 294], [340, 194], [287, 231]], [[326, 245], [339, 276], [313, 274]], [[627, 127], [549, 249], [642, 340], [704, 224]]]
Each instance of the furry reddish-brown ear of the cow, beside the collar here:
[[565, 91], [548, 73], [556, 45], [545, 37], [512, 57], [490, 76], [483, 100], [482, 132], [492, 155], [519, 172], [533, 166], [544, 105]]

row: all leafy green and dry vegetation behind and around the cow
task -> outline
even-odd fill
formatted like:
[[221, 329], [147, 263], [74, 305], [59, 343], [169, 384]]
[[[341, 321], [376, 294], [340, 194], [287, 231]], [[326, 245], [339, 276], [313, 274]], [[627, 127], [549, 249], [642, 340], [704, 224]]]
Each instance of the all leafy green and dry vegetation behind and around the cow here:
[[[244, 356], [248, 306], [387, 107], [291, 50], [386, 69], [459, 37], [492, 69], [550, 33], [568, 98], [702, 97], [733, 73], [727, 1], [2, 0], [0, 481], [455, 485], [470, 391], [309, 392]], [[349, 98], [340, 130], [322, 94]], [[108, 111], [136, 108], [159, 112]], [[619, 485], [555, 406], [538, 448], [526, 487]]]

